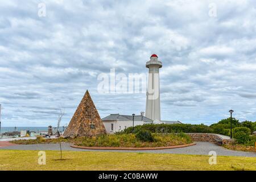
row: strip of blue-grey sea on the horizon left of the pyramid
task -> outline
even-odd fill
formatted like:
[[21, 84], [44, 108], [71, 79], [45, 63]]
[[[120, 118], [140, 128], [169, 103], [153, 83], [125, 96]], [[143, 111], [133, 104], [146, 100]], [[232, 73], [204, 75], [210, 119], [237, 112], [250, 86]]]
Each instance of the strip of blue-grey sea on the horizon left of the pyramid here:
[[[1, 127], [0, 133], [12, 132], [12, 131], [48, 131], [48, 127]], [[63, 131], [63, 127], [59, 127], [59, 131]]]

